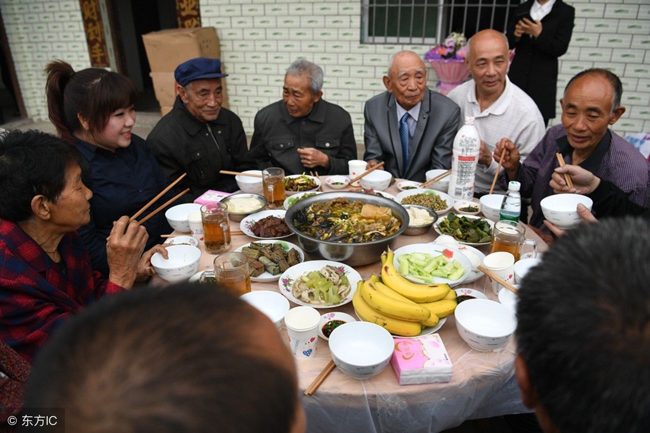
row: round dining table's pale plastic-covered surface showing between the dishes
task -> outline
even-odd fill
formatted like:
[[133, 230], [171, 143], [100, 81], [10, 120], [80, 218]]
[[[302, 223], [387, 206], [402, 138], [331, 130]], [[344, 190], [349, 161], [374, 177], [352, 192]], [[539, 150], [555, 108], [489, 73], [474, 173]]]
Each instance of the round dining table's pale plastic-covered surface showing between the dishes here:
[[[335, 191], [328, 187], [324, 181], [325, 176], [320, 179], [324, 192]], [[396, 196], [399, 192], [396, 187], [399, 181], [400, 179], [385, 192]], [[229, 223], [231, 230], [239, 230], [238, 222]], [[431, 243], [438, 236], [433, 228], [424, 235], [400, 235], [393, 245], [393, 250], [408, 244]], [[536, 241], [539, 252], [547, 249], [545, 242], [528, 226], [526, 238]], [[233, 235], [231, 239], [231, 251], [256, 240], [245, 234]], [[283, 241], [298, 244], [296, 235], [284, 238]], [[200, 248], [202, 254], [198, 270], [212, 269], [216, 256], [205, 252], [203, 245], [200, 245]], [[489, 244], [476, 248], [487, 254]], [[317, 257], [305, 256], [305, 260], [310, 258]], [[380, 257], [376, 257], [374, 263], [355, 269], [366, 279], [373, 272], [380, 274], [380, 263]], [[151, 283], [157, 285], [164, 282], [155, 276]], [[281, 293], [277, 281], [252, 282], [251, 287], [252, 291], [270, 290]], [[498, 301], [497, 296], [486, 284], [485, 276], [473, 283], [460, 283], [454, 289], [462, 287], [478, 289], [483, 291], [487, 298]], [[294, 306], [296, 304], [291, 303], [291, 307]], [[355, 316], [351, 302], [319, 311], [342, 311]], [[280, 332], [288, 344], [286, 329], [283, 327]], [[439, 432], [458, 426], [467, 419], [532, 412], [523, 405], [519, 395], [513, 367], [516, 353], [513, 339], [499, 352], [473, 350], [458, 334], [454, 315], [447, 317], [447, 321], [437, 333], [443, 340], [453, 364], [450, 382], [400, 386], [390, 364], [381, 373], [365, 380], [351, 378], [336, 368], [313, 395], [304, 396], [302, 391], [331, 360], [328, 342], [319, 337], [315, 357], [296, 360], [300, 397], [307, 413], [307, 431]]]

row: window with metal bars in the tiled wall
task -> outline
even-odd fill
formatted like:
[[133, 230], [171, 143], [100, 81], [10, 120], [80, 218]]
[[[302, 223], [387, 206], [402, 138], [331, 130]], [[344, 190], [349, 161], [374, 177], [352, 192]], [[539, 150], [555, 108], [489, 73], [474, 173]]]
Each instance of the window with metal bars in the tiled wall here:
[[483, 29], [505, 32], [523, 0], [361, 0], [361, 42], [437, 44], [451, 32], [470, 38]]

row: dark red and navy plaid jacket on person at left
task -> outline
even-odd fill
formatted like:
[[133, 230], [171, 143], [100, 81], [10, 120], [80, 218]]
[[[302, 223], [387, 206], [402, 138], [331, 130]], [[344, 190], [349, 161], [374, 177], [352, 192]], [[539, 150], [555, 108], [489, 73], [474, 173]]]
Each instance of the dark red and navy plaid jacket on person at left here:
[[18, 225], [0, 222], [0, 340], [29, 360], [71, 314], [124, 290], [92, 270], [76, 231], [59, 252], [62, 263], [55, 263]]

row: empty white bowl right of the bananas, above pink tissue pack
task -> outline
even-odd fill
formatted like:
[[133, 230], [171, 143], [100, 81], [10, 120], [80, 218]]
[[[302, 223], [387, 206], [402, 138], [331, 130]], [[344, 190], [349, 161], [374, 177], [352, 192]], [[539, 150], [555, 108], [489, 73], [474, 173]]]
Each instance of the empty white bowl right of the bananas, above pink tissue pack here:
[[502, 349], [517, 328], [517, 319], [509, 308], [487, 299], [461, 302], [454, 317], [458, 334], [469, 347], [480, 352]]

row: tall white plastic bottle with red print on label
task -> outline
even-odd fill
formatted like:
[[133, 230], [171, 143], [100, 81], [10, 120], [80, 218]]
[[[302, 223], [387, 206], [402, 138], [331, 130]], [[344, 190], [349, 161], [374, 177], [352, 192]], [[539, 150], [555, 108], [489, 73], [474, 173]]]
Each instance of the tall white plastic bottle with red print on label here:
[[456, 199], [467, 200], [474, 196], [474, 174], [481, 140], [474, 127], [474, 118], [465, 117], [463, 125], [454, 137], [454, 150], [451, 159], [451, 176], [447, 193]]

